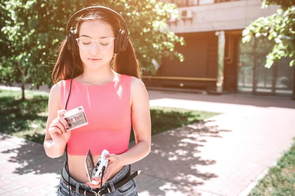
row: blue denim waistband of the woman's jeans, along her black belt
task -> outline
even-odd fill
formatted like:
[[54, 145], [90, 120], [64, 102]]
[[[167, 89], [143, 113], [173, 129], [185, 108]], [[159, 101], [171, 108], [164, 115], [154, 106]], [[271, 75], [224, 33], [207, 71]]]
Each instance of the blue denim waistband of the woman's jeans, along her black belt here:
[[[106, 183], [102, 186], [102, 188], [107, 187], [109, 184], [112, 184], [112, 186], [113, 186], [113, 184], [116, 184], [122, 177], [124, 177], [129, 172], [129, 169], [130, 169], [130, 165], [125, 165], [122, 168], [122, 170], [120, 170], [113, 178], [111, 178], [108, 181], [106, 181]], [[69, 171], [69, 172], [71, 174], [71, 171]], [[69, 175], [68, 175], [68, 173], [67, 173], [67, 171], [65, 169], [65, 162], [63, 163], [63, 168], [62, 168], [62, 172], [61, 173], [62, 173], [62, 177], [68, 182], [68, 176]], [[70, 177], [70, 184], [72, 186], [76, 186], [76, 187], [78, 185], [79, 187], [82, 187], [83, 189], [86, 189], [86, 190], [96, 190], [96, 189], [90, 188], [85, 183], [76, 181], [72, 177]]]

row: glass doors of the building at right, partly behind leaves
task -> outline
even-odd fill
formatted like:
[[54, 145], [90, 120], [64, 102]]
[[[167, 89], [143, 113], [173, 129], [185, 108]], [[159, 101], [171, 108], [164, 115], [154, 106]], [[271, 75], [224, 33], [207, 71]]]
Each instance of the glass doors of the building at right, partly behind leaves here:
[[266, 68], [266, 55], [270, 42], [266, 38], [253, 38], [249, 43], [239, 43], [238, 92], [255, 95], [292, 95], [295, 66], [290, 67], [291, 58], [282, 58]]

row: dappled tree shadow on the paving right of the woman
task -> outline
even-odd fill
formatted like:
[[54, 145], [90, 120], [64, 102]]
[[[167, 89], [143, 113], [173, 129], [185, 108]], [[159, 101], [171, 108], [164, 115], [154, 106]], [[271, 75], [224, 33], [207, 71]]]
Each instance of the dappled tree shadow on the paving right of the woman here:
[[[193, 188], [203, 185], [206, 180], [218, 177], [214, 172], [202, 172], [200, 169], [216, 163], [215, 160], [200, 156], [202, 147], [206, 147], [206, 138], [222, 138], [221, 132], [231, 132], [206, 125], [211, 122], [194, 123], [153, 136], [150, 154], [134, 163], [133, 170], [141, 169], [148, 176], [168, 181], [154, 182], [159, 195], [165, 195], [167, 191], [172, 190], [181, 190], [186, 195], [197, 195], [192, 194]], [[174, 184], [169, 186], [169, 182]], [[148, 184], [150, 183], [152, 184]], [[144, 188], [145, 185], [139, 184], [140, 186]], [[161, 191], [160, 187], [164, 190], [167, 187], [167, 190]], [[152, 196], [151, 193], [149, 195]]]

